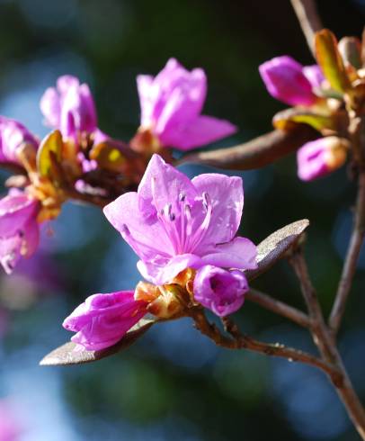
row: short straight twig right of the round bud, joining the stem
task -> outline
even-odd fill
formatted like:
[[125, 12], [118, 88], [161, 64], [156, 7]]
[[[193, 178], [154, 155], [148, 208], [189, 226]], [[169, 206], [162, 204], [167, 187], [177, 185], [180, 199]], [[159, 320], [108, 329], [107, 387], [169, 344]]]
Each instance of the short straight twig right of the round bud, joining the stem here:
[[250, 289], [248, 293], [245, 294], [245, 299], [250, 302], [257, 303], [266, 310], [270, 310], [275, 314], [279, 314], [287, 319], [294, 321], [299, 326], [304, 328], [310, 328], [311, 322], [307, 314], [302, 311], [287, 305], [284, 302], [280, 302], [277, 299], [273, 299], [270, 295], [261, 293], [260, 291]]

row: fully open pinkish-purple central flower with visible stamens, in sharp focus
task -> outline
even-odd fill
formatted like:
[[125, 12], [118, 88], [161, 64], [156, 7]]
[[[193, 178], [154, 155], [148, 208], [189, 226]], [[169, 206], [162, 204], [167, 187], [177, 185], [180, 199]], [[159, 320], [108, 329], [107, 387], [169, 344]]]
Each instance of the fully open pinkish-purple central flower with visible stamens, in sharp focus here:
[[240, 177], [190, 180], [154, 155], [138, 193], [122, 194], [104, 213], [140, 257], [140, 273], [165, 284], [188, 267], [256, 267], [254, 244], [235, 238], [243, 206]]

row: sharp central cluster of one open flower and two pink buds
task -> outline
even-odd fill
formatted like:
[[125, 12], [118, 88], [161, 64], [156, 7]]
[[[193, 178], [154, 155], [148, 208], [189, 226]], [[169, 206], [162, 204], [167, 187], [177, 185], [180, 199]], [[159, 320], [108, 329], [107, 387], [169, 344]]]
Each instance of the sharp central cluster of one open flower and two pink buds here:
[[[244, 206], [239, 177], [207, 174], [190, 180], [154, 155], [138, 192], [122, 194], [105, 216], [140, 258], [149, 283], [135, 292], [95, 294], [64, 322], [76, 343], [99, 350], [116, 343], [147, 312], [159, 319], [208, 308], [237, 311], [248, 290], [256, 247], [236, 237]], [[234, 269], [233, 269], [234, 268]]]

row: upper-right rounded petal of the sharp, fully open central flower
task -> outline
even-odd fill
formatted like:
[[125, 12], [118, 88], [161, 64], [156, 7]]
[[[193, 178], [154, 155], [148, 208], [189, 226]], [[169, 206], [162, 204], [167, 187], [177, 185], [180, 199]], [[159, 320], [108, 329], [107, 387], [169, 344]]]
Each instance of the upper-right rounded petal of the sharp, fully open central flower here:
[[[232, 240], [239, 228], [244, 208], [242, 179], [210, 173], [194, 177], [191, 183], [199, 194], [209, 194], [213, 208], [209, 229], [200, 247], [206, 243], [219, 244]], [[199, 249], [195, 250], [197, 254], [200, 254]]]

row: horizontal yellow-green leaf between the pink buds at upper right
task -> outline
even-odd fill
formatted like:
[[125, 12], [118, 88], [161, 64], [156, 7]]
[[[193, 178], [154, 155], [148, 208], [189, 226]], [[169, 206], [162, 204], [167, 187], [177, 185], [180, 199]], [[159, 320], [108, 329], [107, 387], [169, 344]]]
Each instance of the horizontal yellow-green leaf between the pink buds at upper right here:
[[308, 124], [316, 130], [335, 129], [332, 116], [297, 107], [278, 112], [272, 119], [273, 126], [279, 130], [291, 130], [293, 124], [298, 123]]

